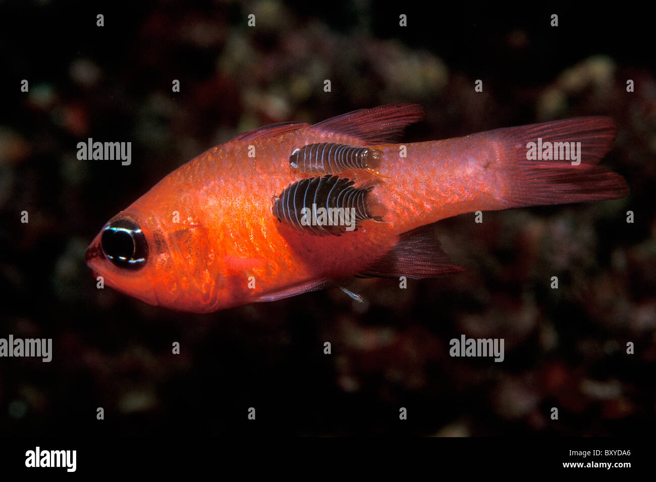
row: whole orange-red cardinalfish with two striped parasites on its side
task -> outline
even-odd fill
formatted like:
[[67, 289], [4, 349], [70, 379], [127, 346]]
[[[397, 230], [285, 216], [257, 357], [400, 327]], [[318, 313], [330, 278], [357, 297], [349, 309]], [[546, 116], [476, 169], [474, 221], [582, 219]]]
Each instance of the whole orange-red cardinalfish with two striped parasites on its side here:
[[432, 237], [434, 222], [628, 194], [598, 166], [615, 138], [607, 117], [394, 144], [421, 117], [419, 106], [390, 104], [245, 132], [110, 219], [87, 264], [144, 302], [207, 313], [356, 275], [448, 275], [461, 268]]

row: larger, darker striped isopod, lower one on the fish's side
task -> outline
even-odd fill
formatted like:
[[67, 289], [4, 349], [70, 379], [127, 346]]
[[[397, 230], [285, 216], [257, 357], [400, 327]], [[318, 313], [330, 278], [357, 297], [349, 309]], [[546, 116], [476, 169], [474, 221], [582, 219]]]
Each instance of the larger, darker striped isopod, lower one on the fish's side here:
[[354, 188], [354, 181], [339, 176], [317, 176], [290, 184], [274, 201], [279, 222], [314, 235], [340, 235], [354, 231], [371, 214], [367, 195], [374, 186]]

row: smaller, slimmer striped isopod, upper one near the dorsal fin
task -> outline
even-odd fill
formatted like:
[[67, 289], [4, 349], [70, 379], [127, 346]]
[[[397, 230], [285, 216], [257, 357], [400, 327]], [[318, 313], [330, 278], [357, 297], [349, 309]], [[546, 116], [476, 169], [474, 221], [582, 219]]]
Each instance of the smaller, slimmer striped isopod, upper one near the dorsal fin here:
[[293, 151], [289, 164], [307, 174], [338, 174], [349, 169], [371, 171], [379, 166], [381, 155], [376, 149], [321, 142]]

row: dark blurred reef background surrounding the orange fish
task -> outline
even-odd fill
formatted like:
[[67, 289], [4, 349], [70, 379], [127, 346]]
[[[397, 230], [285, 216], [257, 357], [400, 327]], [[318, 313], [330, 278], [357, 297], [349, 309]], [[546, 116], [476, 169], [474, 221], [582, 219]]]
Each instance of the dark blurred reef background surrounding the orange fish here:
[[[0, 359], [0, 433], [634, 435], [653, 426], [653, 26], [636, 8], [613, 9], [0, 3], [0, 337], [52, 338], [54, 351], [51, 363]], [[603, 163], [632, 193], [485, 212], [483, 224], [472, 214], [444, 220], [438, 237], [467, 271], [407, 290], [360, 280], [350, 288], [362, 305], [333, 289], [190, 315], [96, 289], [86, 246], [178, 165], [266, 123], [401, 101], [427, 113], [408, 141], [610, 115], [619, 131]], [[88, 137], [131, 141], [132, 165], [78, 161]], [[505, 361], [449, 357], [463, 333], [504, 338]]]

